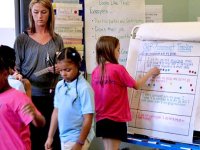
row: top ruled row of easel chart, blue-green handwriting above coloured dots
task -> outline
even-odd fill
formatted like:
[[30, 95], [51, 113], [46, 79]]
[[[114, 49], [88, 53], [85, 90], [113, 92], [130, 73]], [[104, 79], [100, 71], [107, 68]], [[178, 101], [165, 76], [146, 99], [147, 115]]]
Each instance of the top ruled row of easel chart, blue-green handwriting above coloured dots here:
[[149, 70], [153, 66], [160, 68], [161, 73], [197, 75], [199, 57], [178, 56], [140, 56], [138, 58], [138, 71]]

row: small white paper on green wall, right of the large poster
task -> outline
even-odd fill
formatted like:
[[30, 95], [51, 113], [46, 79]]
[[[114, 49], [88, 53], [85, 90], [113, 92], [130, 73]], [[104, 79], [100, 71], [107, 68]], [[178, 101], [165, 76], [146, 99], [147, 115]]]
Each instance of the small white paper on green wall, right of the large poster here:
[[146, 5], [145, 22], [163, 22], [163, 5]]

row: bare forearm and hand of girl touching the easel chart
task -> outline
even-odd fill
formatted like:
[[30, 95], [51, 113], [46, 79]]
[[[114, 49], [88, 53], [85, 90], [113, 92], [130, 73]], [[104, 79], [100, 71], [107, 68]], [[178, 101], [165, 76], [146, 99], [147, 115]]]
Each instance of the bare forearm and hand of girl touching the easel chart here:
[[157, 76], [158, 74], [160, 74], [159, 68], [151, 68], [142, 78], [136, 81], [136, 86], [134, 88], [136, 90], [140, 89], [150, 77]]

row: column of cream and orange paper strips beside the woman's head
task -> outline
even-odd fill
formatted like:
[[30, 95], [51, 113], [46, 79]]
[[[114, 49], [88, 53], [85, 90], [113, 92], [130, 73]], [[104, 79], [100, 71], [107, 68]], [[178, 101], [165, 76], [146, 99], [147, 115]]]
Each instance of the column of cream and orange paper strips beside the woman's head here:
[[64, 47], [74, 47], [83, 55], [83, 6], [74, 0], [54, 2], [55, 32], [63, 38]]

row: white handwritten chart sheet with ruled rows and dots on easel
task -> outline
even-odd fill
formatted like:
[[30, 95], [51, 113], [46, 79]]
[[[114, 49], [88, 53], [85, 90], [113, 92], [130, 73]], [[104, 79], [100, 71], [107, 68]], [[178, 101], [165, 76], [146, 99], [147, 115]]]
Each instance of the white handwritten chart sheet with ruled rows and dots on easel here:
[[200, 99], [199, 50], [198, 42], [130, 40], [127, 69], [132, 76], [138, 79], [154, 66], [160, 75], [141, 90], [130, 90], [129, 133], [192, 143]]

